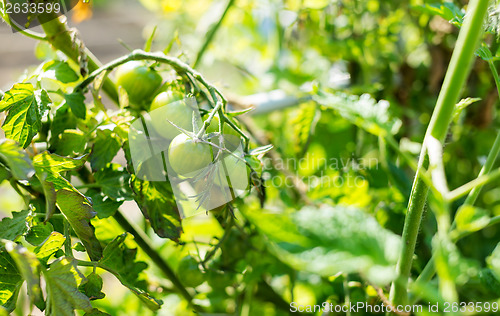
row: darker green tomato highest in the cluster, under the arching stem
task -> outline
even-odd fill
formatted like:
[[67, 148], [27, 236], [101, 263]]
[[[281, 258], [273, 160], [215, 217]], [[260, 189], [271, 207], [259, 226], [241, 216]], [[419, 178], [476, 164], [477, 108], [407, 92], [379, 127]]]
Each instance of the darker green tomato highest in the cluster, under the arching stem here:
[[151, 67], [140, 61], [129, 61], [116, 69], [116, 84], [128, 94], [129, 104], [137, 110], [145, 110], [163, 78]]

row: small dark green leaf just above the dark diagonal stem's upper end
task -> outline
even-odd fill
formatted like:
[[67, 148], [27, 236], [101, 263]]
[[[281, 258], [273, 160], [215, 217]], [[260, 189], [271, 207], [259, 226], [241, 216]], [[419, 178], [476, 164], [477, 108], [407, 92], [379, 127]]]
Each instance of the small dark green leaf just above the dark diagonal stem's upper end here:
[[119, 164], [111, 164], [108, 168], [96, 172], [94, 177], [102, 192], [110, 198], [118, 202], [132, 200], [132, 192], [128, 185], [130, 174]]

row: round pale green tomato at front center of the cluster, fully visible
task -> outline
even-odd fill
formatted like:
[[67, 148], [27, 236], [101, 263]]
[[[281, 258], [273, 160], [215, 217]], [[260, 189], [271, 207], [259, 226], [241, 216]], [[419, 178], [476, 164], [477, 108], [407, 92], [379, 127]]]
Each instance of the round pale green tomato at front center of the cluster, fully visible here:
[[179, 176], [191, 178], [212, 162], [212, 148], [197, 139], [180, 134], [170, 143], [168, 160]]

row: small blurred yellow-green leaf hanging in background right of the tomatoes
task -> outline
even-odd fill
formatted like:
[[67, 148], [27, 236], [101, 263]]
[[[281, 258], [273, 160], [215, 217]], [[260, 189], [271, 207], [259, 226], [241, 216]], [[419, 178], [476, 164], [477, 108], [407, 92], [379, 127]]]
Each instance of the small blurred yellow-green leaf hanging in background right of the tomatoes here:
[[319, 119], [317, 105], [306, 103], [300, 106], [290, 124], [293, 126], [294, 151], [299, 157], [307, 151], [309, 138], [314, 133], [315, 125]]

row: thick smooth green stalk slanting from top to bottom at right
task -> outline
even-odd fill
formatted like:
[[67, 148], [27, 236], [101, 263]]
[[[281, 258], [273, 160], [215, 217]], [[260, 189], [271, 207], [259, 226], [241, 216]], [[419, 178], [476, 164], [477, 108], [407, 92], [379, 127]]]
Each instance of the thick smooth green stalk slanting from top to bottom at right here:
[[[436, 108], [427, 128], [419, 160], [419, 169], [425, 165], [426, 140], [429, 137], [434, 137], [442, 142], [448, 132], [455, 104], [470, 72], [474, 51], [483, 32], [483, 20], [488, 9], [488, 2], [488, 0], [472, 0], [469, 3], [469, 10], [460, 30]], [[396, 268], [398, 280], [393, 282], [391, 287], [390, 300], [394, 305], [406, 304], [408, 299], [408, 277], [428, 191], [429, 187], [424, 183], [421, 172], [417, 170], [403, 228], [403, 245]]]

